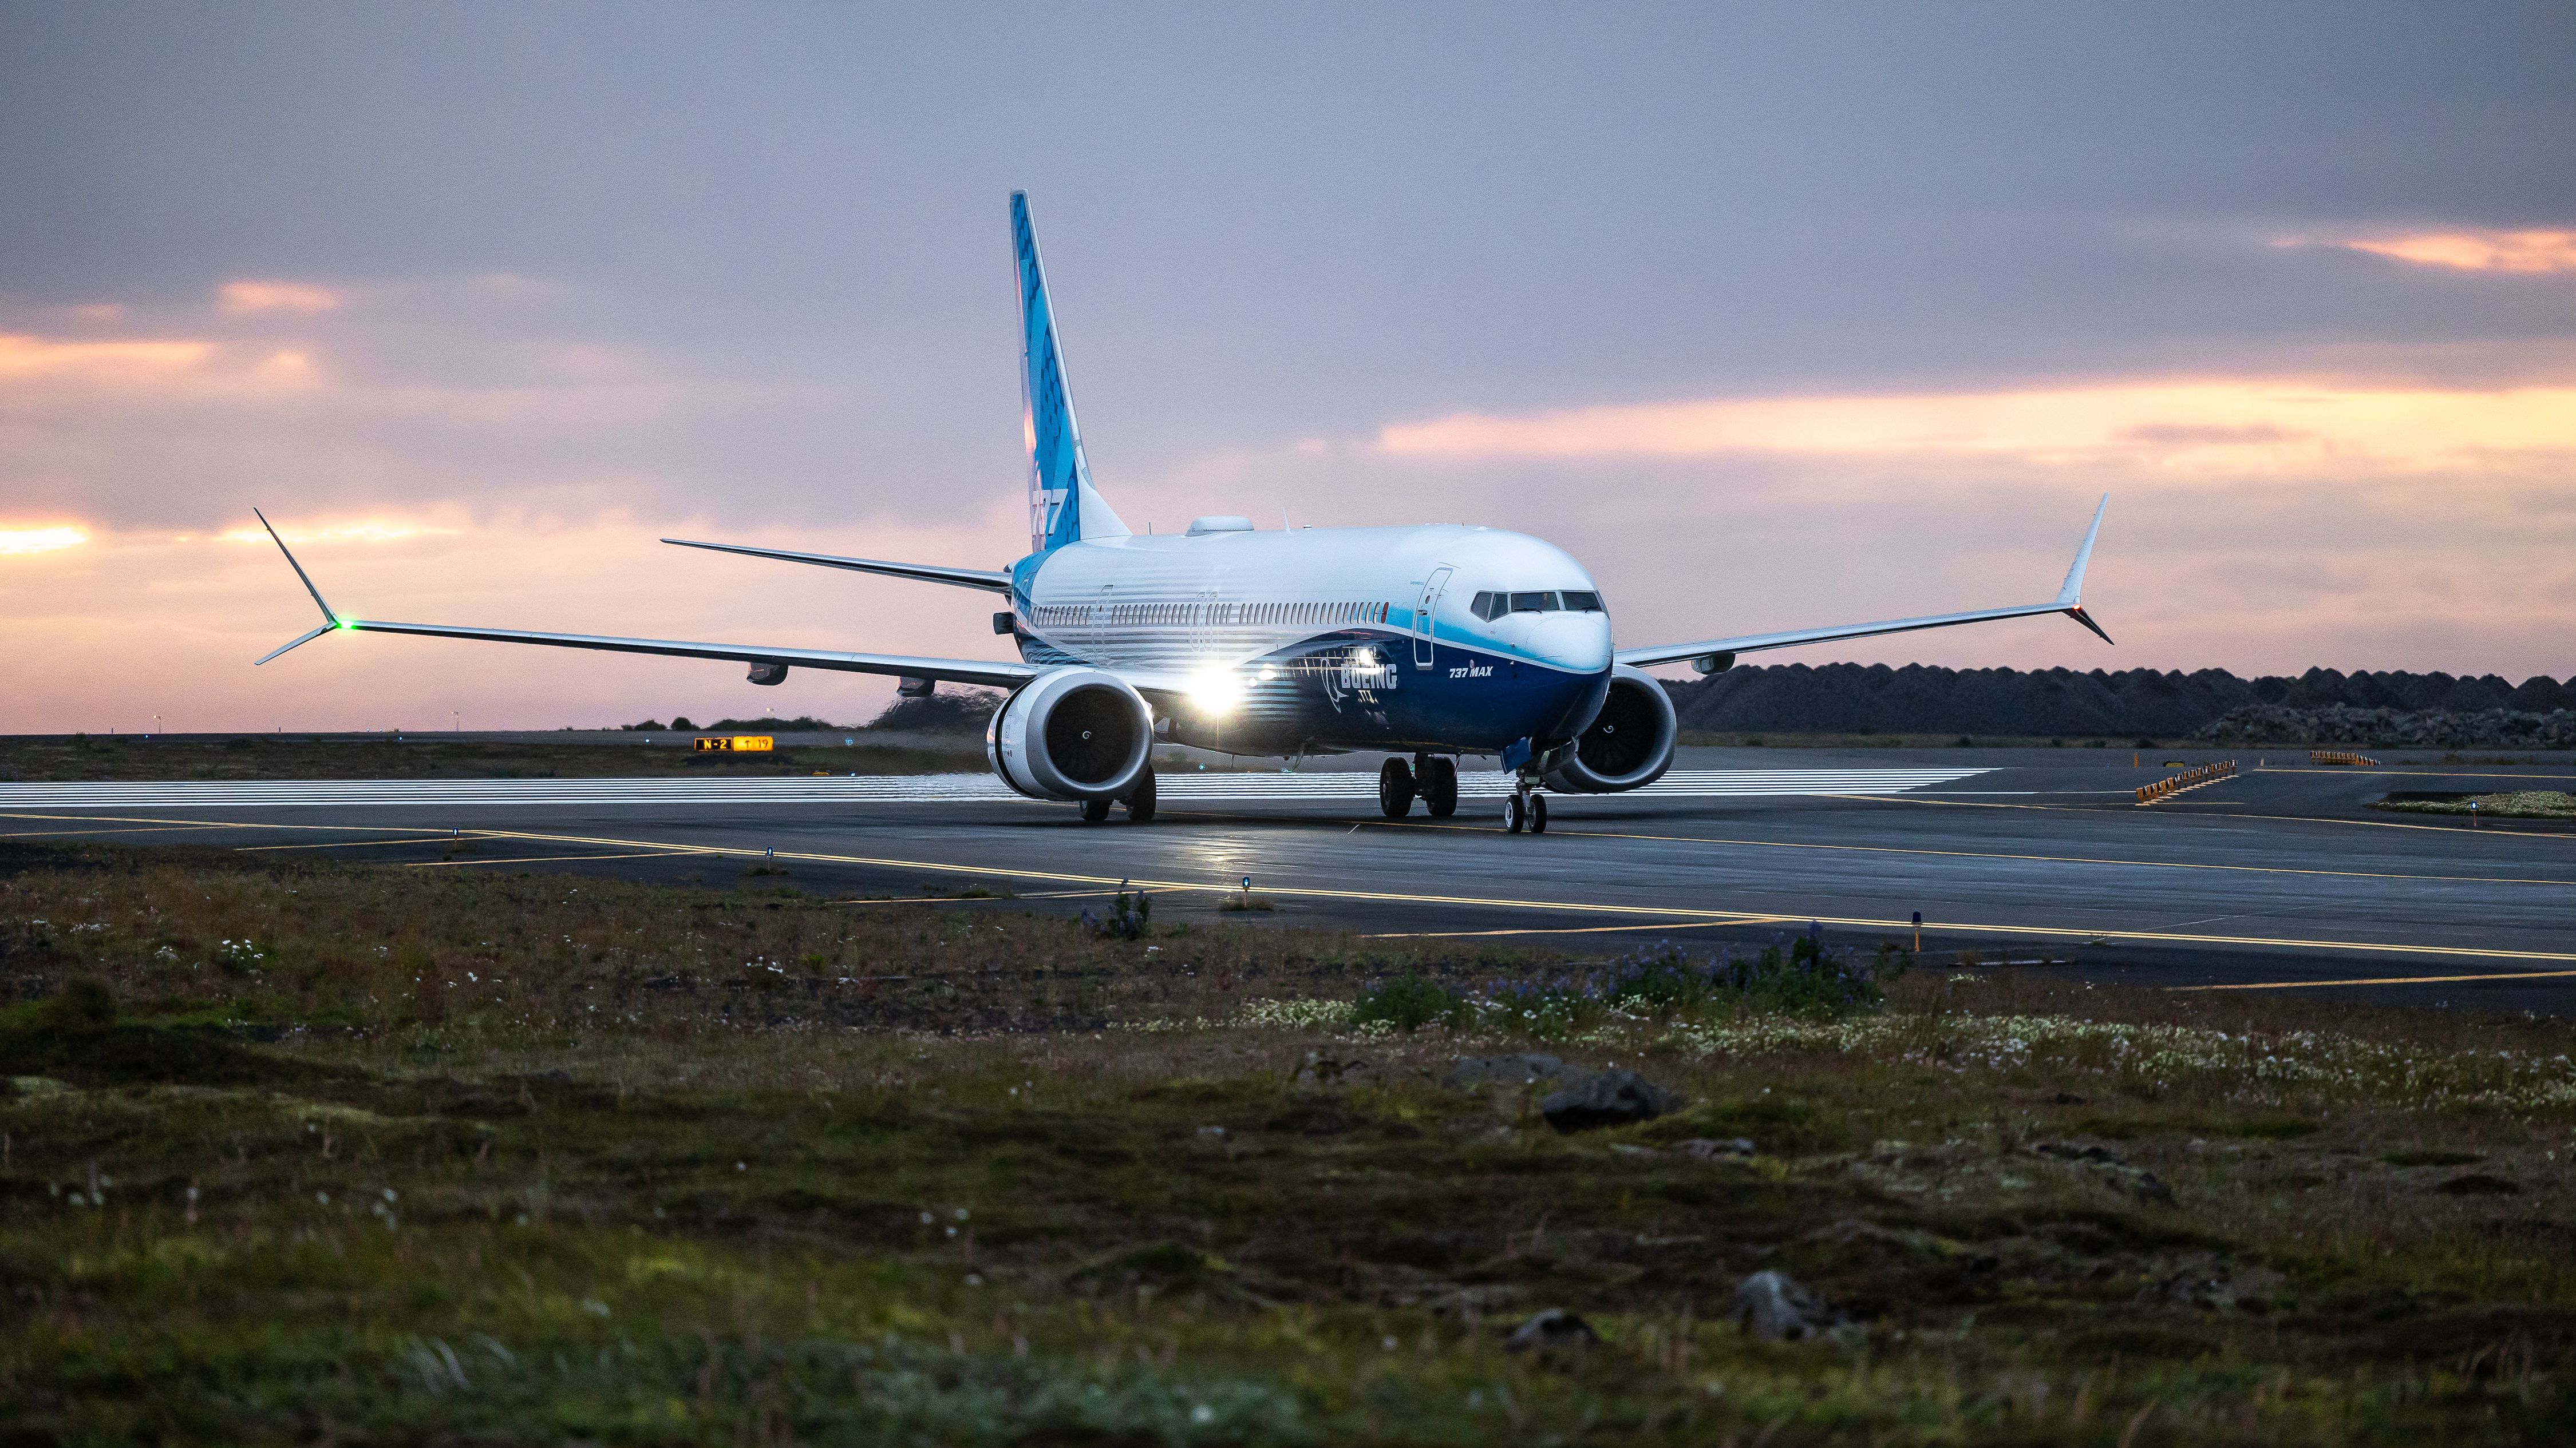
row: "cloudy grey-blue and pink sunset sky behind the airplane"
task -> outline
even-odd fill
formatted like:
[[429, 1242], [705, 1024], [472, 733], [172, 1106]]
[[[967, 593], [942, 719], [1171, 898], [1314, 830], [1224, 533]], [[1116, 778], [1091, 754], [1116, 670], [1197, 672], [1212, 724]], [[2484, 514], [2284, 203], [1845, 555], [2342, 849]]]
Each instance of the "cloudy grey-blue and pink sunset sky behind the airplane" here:
[[[1136, 528], [1749, 662], [2576, 675], [2576, 8], [0, 0], [0, 732], [866, 719], [1007, 657], [1007, 196]], [[157, 721], [157, 724], [155, 724]]]

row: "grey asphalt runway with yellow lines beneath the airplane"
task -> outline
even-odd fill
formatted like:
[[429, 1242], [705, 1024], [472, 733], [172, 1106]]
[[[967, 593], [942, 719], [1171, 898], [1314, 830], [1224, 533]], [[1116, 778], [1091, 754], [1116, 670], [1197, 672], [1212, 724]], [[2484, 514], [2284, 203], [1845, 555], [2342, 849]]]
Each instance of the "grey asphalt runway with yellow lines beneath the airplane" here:
[[[1468, 776], [1455, 819], [1388, 822], [1365, 770], [1167, 773], [1162, 817], [1141, 827], [1082, 824], [976, 776], [18, 783], [0, 786], [0, 835], [793, 884], [930, 912], [1069, 912], [1128, 881], [1162, 897], [1157, 920], [1577, 956], [1759, 943], [1808, 922], [1875, 946], [1911, 940], [1922, 912], [1927, 958], [1973, 951], [1986, 964], [1968, 971], [2576, 1007], [2576, 832], [2367, 809], [2388, 788], [2568, 788], [2568, 765], [2246, 760], [2138, 806], [2133, 788], [2164, 770], [2128, 755], [1780, 755], [1695, 750], [1656, 788], [1556, 796], [1538, 837], [1492, 819], [1499, 776]], [[786, 881], [744, 879], [752, 861]], [[1218, 915], [1247, 876], [1275, 910]]]

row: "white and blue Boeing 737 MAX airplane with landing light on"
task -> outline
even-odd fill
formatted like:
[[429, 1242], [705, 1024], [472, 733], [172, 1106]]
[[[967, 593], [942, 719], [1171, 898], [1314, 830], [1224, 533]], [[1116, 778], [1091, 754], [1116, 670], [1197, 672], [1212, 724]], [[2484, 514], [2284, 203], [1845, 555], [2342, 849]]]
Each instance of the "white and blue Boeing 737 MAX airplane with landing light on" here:
[[1007, 569], [969, 569], [662, 541], [992, 593], [1010, 603], [992, 629], [1018, 644], [1018, 662], [345, 618], [268, 515], [252, 510], [322, 611], [319, 629], [258, 662], [332, 631], [425, 634], [734, 660], [750, 665], [755, 685], [775, 685], [788, 670], [840, 670], [894, 675], [896, 691], [914, 698], [940, 683], [1002, 688], [1007, 698], [984, 732], [992, 773], [1028, 799], [1079, 804], [1090, 822], [1113, 806], [1139, 824], [1154, 819], [1157, 742], [1231, 755], [1386, 750], [1378, 806], [1388, 819], [1406, 817], [1417, 799], [1432, 817], [1455, 814], [1458, 757], [1499, 755], [1512, 773], [1504, 830], [1517, 835], [1548, 827], [1551, 791], [1618, 794], [1664, 776], [1677, 719], [1646, 672], [1656, 665], [1687, 662], [1710, 675], [1759, 649], [2038, 613], [2063, 613], [2110, 644], [2084, 613], [2084, 564], [2110, 495], [2048, 603], [1636, 649], [1613, 644], [1592, 575], [1528, 533], [1458, 523], [1257, 531], [1247, 518], [1208, 515], [1185, 533], [1136, 536], [1092, 487], [1025, 191], [1010, 196], [1010, 234], [1020, 271], [1028, 557]]

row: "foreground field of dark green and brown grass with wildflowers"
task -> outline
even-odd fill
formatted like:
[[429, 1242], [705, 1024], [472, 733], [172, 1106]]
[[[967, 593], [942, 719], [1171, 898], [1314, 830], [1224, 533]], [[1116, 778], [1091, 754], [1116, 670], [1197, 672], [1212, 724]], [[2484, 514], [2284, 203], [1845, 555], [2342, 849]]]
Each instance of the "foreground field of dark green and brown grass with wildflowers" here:
[[[1005, 910], [0, 850], [0, 1438], [2576, 1430], [2553, 1020], [1873, 971], [1404, 1031], [1646, 976]], [[1690, 1105], [1440, 1085], [1535, 1043]], [[1844, 1324], [1744, 1337], [1762, 1268]], [[1504, 1353], [1543, 1306], [1602, 1345]]]

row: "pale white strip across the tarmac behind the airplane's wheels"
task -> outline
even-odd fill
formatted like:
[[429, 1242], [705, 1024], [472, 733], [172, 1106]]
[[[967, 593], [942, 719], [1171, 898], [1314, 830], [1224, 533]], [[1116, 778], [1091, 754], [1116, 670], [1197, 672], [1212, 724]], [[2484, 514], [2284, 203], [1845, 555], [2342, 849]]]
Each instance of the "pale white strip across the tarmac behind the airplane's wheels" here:
[[[1633, 791], [1662, 799], [1762, 794], [1904, 794], [1986, 770], [1672, 770]], [[1373, 773], [1157, 773], [1164, 804], [1376, 801]], [[1502, 799], [1512, 776], [1463, 773], [1461, 799]], [[992, 776], [739, 776], [739, 778], [304, 778], [0, 783], [0, 809], [270, 809], [281, 804], [1007, 804]]]

